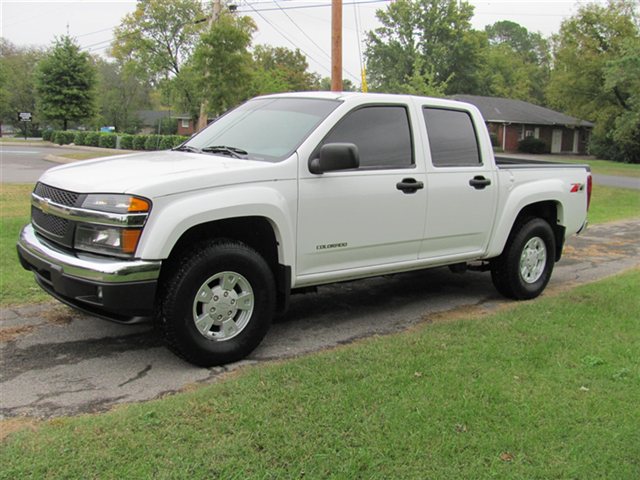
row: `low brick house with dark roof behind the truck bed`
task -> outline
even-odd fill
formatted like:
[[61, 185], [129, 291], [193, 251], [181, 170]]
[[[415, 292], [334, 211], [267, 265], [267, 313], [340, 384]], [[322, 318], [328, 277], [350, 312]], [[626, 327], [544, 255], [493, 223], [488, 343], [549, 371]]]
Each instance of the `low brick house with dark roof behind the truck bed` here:
[[539, 138], [551, 153], [587, 153], [594, 124], [522, 100], [454, 95], [478, 107], [489, 129], [505, 152], [517, 152], [525, 137]]

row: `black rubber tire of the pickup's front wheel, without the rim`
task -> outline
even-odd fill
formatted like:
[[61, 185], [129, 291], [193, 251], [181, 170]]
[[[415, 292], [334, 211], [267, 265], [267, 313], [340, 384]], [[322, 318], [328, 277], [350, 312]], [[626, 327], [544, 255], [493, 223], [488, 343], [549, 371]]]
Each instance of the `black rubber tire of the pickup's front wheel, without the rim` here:
[[[213, 275], [231, 271], [246, 278], [254, 295], [249, 323], [235, 337], [216, 341], [205, 338], [193, 320], [193, 301], [200, 287]], [[169, 323], [170, 339], [179, 353], [202, 366], [220, 365], [244, 358], [266, 335], [275, 310], [273, 274], [264, 259], [240, 243], [209, 245], [196, 251], [179, 270], [167, 292], [167, 309], [163, 319]]]

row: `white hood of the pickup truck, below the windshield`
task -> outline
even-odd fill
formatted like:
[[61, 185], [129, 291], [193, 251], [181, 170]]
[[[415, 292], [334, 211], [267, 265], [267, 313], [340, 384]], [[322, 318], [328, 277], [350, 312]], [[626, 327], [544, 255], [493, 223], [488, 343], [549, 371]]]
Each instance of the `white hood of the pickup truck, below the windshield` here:
[[159, 151], [55, 167], [47, 170], [40, 177], [40, 182], [80, 193], [131, 193], [154, 198], [200, 188], [285, 180], [295, 176], [296, 162], [287, 160], [269, 163], [219, 155]]

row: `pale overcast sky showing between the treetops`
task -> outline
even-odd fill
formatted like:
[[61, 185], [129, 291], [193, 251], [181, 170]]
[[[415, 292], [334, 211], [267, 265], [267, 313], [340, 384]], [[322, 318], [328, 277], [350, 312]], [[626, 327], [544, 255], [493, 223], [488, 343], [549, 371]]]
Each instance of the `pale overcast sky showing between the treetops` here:
[[[343, 0], [344, 78], [360, 83], [359, 45], [365, 32], [378, 25], [375, 12], [392, 0]], [[357, 5], [352, 3], [357, 2]], [[606, 0], [468, 0], [475, 7], [473, 26], [483, 29], [499, 20], [511, 20], [548, 37], [580, 5]], [[207, 3], [207, 2], [203, 2]], [[310, 70], [330, 76], [331, 0], [235, 0], [228, 4], [251, 16], [258, 25], [253, 44], [300, 48]], [[135, 10], [132, 0], [0, 0], [0, 36], [20, 46], [48, 46], [68, 33], [83, 50], [106, 55], [113, 28]], [[68, 30], [67, 30], [68, 29]]]

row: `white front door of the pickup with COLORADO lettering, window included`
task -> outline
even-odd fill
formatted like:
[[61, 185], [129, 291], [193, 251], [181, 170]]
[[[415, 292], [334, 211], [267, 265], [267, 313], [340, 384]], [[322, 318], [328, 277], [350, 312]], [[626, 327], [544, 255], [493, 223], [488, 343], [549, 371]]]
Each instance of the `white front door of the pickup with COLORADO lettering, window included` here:
[[[424, 161], [416, 162], [412, 132], [421, 120], [415, 110], [411, 115], [401, 103], [363, 105], [345, 114], [318, 148], [355, 144], [358, 169], [314, 175], [303, 160], [297, 233], [301, 280], [417, 259], [426, 190]], [[412, 182], [415, 188], [407, 188]]]

